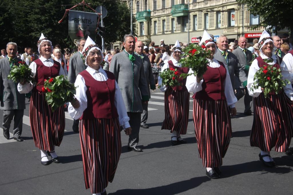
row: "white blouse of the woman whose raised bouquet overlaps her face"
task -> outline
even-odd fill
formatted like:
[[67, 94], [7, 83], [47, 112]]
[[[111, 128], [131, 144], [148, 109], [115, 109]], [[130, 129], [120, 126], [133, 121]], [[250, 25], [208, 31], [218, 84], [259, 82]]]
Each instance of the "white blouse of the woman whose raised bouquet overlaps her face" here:
[[[212, 60], [208, 59], [209, 61], [209, 67], [211, 68], [219, 68], [220, 64], [219, 62], [213, 58]], [[202, 83], [203, 79], [200, 81], [200, 83], [196, 82], [196, 77], [193, 75], [193, 70], [189, 70], [189, 73], [192, 73], [192, 75], [189, 75], [186, 80], [186, 88], [188, 89], [188, 92], [193, 92], [194, 94], [196, 92], [200, 92], [202, 90]], [[224, 81], [224, 93], [226, 96], [227, 104], [231, 108], [235, 107], [235, 103], [237, 102], [237, 98], [234, 95], [233, 87], [230, 80], [229, 72], [226, 71], [226, 79]]]

